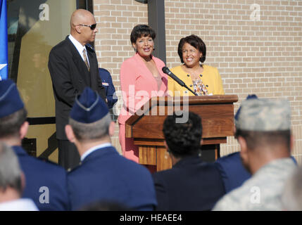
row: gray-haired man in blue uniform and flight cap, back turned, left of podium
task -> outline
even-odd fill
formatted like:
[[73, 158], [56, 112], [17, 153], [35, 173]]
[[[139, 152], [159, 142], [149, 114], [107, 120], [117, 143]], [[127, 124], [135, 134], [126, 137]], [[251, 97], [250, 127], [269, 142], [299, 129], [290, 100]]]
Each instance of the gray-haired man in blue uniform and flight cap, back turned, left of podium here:
[[114, 122], [108, 106], [89, 87], [75, 99], [65, 127], [81, 155], [81, 165], [68, 174], [72, 210], [106, 201], [133, 210], [153, 210], [156, 193], [150, 172], [127, 160], [111, 145]]

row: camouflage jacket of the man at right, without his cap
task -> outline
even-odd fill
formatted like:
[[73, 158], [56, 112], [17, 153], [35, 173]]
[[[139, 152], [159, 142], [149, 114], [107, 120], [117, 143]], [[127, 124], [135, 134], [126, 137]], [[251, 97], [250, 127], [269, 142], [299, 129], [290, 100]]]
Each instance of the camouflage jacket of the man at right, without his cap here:
[[296, 164], [291, 158], [268, 163], [241, 187], [222, 197], [213, 210], [282, 210], [284, 183], [295, 168]]

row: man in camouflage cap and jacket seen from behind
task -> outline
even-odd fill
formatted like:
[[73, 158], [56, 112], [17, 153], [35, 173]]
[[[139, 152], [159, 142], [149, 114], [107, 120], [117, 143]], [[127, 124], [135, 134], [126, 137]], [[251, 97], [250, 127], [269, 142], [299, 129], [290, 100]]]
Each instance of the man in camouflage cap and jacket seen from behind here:
[[252, 174], [213, 210], [282, 210], [284, 181], [296, 168], [290, 158], [291, 108], [287, 100], [248, 99], [235, 120], [240, 156]]

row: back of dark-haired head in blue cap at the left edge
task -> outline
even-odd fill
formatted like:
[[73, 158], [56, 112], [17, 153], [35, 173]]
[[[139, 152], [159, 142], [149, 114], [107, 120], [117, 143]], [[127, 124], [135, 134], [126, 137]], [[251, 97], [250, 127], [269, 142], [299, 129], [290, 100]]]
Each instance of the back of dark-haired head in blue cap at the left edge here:
[[0, 139], [18, 136], [27, 111], [11, 79], [0, 81]]

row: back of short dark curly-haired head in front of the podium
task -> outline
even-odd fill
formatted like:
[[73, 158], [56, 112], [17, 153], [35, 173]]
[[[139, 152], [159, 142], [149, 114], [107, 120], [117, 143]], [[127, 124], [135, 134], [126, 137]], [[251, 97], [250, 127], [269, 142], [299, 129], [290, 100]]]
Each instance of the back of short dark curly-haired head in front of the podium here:
[[177, 115], [168, 115], [163, 123], [163, 134], [170, 153], [177, 158], [197, 155], [200, 150], [201, 117], [189, 112], [187, 122], [177, 123]]

